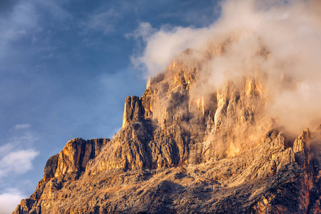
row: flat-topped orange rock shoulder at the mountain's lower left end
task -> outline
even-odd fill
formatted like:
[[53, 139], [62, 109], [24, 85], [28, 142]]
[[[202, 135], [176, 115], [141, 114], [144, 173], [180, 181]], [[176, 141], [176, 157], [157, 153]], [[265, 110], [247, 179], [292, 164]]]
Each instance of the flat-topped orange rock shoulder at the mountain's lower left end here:
[[34, 194], [29, 199], [22, 200], [15, 212], [41, 213], [41, 205], [37, 205], [39, 200], [54, 198], [55, 191], [68, 182], [78, 180], [85, 172], [88, 161], [96, 158], [108, 141], [110, 140], [107, 138], [88, 141], [74, 138], [68, 141], [60, 153], [49, 158], [44, 168], [44, 178], [39, 181]]

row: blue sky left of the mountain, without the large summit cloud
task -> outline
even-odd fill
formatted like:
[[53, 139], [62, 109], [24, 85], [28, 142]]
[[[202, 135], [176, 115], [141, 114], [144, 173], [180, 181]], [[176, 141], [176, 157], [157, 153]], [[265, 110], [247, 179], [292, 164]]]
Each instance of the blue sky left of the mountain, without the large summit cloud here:
[[[112, 138], [161, 29], [198, 29], [218, 1], [0, 1], [0, 206], [11, 213], [72, 138]], [[158, 69], [161, 69], [158, 68]]]

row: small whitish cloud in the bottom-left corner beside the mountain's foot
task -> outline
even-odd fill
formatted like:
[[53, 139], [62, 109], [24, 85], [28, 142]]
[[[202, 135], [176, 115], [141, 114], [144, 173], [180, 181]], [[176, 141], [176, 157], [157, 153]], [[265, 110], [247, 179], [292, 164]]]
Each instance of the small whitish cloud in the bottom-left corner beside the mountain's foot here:
[[0, 193], [0, 214], [12, 213], [22, 198], [27, 198], [19, 189], [10, 188]]

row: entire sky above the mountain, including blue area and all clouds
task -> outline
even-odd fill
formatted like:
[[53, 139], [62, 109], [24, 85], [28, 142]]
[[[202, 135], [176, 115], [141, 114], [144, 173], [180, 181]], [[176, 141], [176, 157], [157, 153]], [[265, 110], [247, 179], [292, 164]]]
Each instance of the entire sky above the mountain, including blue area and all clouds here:
[[313, 131], [320, 14], [319, 0], [1, 0], [0, 214], [34, 192], [67, 141], [113, 138], [125, 98], [187, 48], [234, 38], [203, 65], [198, 92], [262, 71], [267, 117], [294, 138]]

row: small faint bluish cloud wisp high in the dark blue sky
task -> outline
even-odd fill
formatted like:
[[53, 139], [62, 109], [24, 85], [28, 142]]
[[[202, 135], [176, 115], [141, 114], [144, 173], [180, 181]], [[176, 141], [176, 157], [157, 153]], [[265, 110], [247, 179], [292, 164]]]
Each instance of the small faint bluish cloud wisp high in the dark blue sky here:
[[115, 30], [116, 20], [121, 17], [114, 9], [109, 9], [108, 11], [96, 11], [86, 18], [86, 20], [81, 21], [81, 28], [86, 33], [91, 31], [102, 32], [103, 34], [109, 34]]

